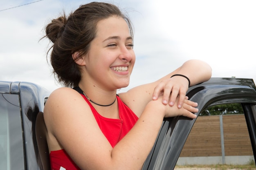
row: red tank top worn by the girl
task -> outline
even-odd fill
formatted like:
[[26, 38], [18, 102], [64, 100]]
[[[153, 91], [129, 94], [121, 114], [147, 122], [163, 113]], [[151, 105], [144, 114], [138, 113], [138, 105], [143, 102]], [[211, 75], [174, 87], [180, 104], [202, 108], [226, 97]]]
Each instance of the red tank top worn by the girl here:
[[[101, 116], [94, 109], [88, 99], [83, 94], [81, 95], [89, 104], [99, 128], [112, 147], [115, 147], [115, 145], [130, 131], [138, 120], [138, 117], [132, 112], [132, 110], [130, 110], [130, 108], [128, 108], [128, 106], [126, 106], [126, 104], [124, 104], [124, 102], [121, 101], [119, 96], [117, 96], [117, 102], [120, 119], [110, 119]], [[51, 151], [50, 161], [52, 170], [80, 170], [64, 149]]]

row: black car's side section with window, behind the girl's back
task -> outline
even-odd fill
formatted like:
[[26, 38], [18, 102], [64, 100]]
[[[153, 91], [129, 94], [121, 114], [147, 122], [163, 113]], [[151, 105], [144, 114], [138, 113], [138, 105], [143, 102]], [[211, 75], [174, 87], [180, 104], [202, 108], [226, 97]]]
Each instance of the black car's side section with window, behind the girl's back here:
[[0, 81], [0, 170], [40, 170], [34, 129], [48, 95], [36, 84]]

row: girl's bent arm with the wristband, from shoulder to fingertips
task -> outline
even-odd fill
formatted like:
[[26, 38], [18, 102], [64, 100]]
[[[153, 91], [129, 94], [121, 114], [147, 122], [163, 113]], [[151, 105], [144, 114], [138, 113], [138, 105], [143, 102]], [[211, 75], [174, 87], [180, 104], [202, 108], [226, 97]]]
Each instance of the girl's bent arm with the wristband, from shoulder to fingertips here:
[[[211, 78], [211, 67], [200, 60], [189, 60], [156, 82], [132, 88], [126, 93], [121, 93], [120, 97], [138, 116], [150, 100], [155, 100], [162, 95], [162, 103], [170, 106], [173, 106], [179, 95], [180, 99], [177, 106], [180, 108], [189, 88], [189, 82], [182, 76], [170, 78], [174, 74], [185, 75], [190, 79], [190, 86], [193, 86]], [[169, 99], [170, 94], [171, 98]]]

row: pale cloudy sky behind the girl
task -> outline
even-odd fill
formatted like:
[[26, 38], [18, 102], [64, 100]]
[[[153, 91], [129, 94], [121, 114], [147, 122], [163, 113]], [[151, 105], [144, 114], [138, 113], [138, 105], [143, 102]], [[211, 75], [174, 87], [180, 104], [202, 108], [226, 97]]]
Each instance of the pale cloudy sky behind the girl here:
[[[89, 2], [0, 0], [0, 81], [32, 82], [49, 91], [61, 87], [47, 63], [49, 40], [40, 38], [52, 19]], [[134, 25], [135, 67], [130, 85], [120, 92], [153, 82], [191, 59], [207, 62], [212, 77], [256, 82], [255, 0], [100, 2], [116, 4]]]

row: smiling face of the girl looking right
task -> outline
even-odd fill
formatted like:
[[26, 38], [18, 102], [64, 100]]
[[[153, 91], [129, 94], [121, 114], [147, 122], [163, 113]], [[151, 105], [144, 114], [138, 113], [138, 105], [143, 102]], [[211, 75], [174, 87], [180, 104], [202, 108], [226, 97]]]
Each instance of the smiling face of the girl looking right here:
[[105, 90], [128, 86], [135, 63], [133, 42], [126, 21], [120, 17], [100, 20], [85, 57], [85, 76]]

